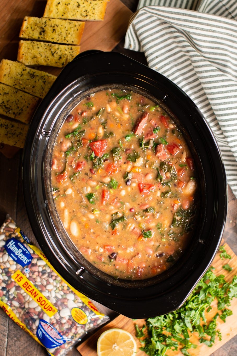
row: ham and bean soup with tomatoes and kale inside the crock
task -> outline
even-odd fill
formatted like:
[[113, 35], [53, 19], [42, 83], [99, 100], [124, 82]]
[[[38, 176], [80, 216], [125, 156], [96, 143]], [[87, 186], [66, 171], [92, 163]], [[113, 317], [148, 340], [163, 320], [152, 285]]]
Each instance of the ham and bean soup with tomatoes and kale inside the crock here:
[[150, 278], [180, 258], [192, 235], [194, 168], [159, 105], [128, 90], [98, 91], [65, 117], [56, 138], [56, 210], [92, 265], [115, 278]]

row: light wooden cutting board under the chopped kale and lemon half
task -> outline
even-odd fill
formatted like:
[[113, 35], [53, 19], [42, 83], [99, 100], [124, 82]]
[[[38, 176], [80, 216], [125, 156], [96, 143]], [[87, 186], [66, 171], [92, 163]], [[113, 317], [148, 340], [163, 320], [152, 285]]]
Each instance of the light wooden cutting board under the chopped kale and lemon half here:
[[[231, 260], [221, 260], [219, 257], [219, 253], [216, 255], [212, 266], [215, 267], [214, 273], [216, 275], [224, 274], [225, 279], [227, 282], [230, 282], [237, 274], [237, 256], [235, 253], [231, 250], [231, 248], [227, 245], [224, 244], [226, 252], [231, 255]], [[223, 265], [228, 263], [233, 269], [231, 272], [226, 271], [225, 269], [222, 268]], [[197, 344], [198, 347], [196, 349], [190, 349], [189, 353], [192, 356], [210, 356], [214, 351], [219, 349], [223, 344], [225, 344], [228, 340], [230, 340], [233, 336], [237, 335], [237, 323], [236, 323], [236, 317], [237, 317], [237, 299], [233, 299], [231, 302], [230, 309], [233, 312], [233, 315], [228, 316], [226, 318], [226, 323], [224, 323], [220, 318], [217, 319], [217, 328], [220, 330], [221, 335], [222, 335], [222, 340], [219, 341], [219, 339], [216, 337], [216, 342], [214, 346], [208, 347], [205, 344], [199, 344], [198, 342], [198, 334], [194, 333], [192, 337], [190, 337], [190, 342], [193, 342], [194, 344]], [[214, 300], [212, 303], [212, 310], [208, 314], [206, 313], [206, 319], [207, 321], [210, 321], [210, 319], [217, 313], [217, 302]], [[126, 331], [129, 331], [134, 336], [134, 339], [137, 342], [138, 345], [138, 352], [137, 356], [145, 356], [145, 352], [139, 350], [139, 347], [141, 346], [140, 342], [138, 339], [135, 337], [135, 331], [134, 331], [134, 324], [138, 324], [140, 327], [145, 324], [145, 319], [129, 319], [124, 315], [119, 315], [117, 318], [112, 320], [110, 323], [107, 325], [103, 326], [99, 331], [97, 331], [95, 334], [90, 336], [86, 341], [82, 342], [78, 347], [77, 350], [80, 352], [82, 356], [97, 356], [96, 352], [96, 345], [97, 345], [97, 340], [98, 337], [103, 333], [103, 331], [106, 331], [111, 328], [119, 328], [119, 329], [124, 329]], [[183, 356], [181, 351], [167, 351], [166, 352], [167, 356]], [[234, 355], [233, 355], [234, 356]]]

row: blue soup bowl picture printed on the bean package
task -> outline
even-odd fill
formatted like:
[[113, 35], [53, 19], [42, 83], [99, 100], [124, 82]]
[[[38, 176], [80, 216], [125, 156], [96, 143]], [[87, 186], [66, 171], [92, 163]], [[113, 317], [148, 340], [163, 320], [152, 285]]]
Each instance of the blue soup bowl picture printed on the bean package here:
[[47, 349], [54, 349], [54, 347], [65, 344], [66, 341], [71, 341], [71, 339], [64, 339], [58, 330], [44, 319], [39, 319], [36, 336]]

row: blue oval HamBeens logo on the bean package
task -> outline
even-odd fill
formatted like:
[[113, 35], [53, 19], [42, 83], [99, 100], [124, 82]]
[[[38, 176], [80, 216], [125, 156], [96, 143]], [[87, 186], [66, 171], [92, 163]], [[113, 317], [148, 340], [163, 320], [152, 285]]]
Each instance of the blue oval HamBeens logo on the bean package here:
[[32, 256], [27, 248], [15, 237], [7, 240], [4, 246], [5, 250], [11, 256], [12, 260], [16, 261], [22, 267], [28, 266], [32, 261]]

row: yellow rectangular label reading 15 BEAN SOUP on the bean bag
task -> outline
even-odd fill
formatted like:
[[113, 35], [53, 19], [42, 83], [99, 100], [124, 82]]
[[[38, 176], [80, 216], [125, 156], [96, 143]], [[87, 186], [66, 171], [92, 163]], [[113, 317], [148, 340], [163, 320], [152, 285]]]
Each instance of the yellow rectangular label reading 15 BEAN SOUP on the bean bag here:
[[41, 307], [50, 318], [58, 310], [49, 302], [47, 298], [29, 281], [19, 269], [11, 276], [14, 281]]

